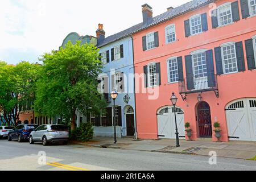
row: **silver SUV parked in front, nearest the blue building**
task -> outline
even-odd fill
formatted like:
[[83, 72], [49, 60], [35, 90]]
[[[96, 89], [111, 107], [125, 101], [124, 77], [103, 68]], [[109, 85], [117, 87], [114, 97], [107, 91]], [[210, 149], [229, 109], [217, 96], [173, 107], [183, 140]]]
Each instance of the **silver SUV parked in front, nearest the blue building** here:
[[42, 142], [44, 146], [49, 143], [63, 142], [68, 144], [68, 127], [65, 125], [41, 125], [30, 134], [30, 144]]

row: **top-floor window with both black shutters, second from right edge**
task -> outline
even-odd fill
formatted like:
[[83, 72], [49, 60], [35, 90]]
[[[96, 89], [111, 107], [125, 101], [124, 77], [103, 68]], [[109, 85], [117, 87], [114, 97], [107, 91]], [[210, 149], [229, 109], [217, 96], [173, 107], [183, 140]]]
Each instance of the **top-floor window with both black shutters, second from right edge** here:
[[226, 26], [240, 20], [238, 1], [225, 3], [212, 11], [212, 28]]

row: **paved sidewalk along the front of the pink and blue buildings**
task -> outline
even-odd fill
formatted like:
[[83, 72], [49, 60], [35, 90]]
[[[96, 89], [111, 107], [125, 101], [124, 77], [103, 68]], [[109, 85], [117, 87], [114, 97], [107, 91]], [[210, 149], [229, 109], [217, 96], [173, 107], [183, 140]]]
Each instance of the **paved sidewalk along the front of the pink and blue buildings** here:
[[176, 146], [176, 140], [136, 140], [133, 138], [117, 139], [117, 144], [113, 143], [113, 138], [93, 138], [90, 142], [71, 142], [89, 147], [119, 148], [125, 150], [166, 152], [176, 154], [191, 154], [208, 156], [210, 151], [216, 151], [217, 156], [225, 158], [251, 159], [256, 156], [256, 142], [228, 142], [216, 143], [210, 141], [180, 140], [180, 147]]

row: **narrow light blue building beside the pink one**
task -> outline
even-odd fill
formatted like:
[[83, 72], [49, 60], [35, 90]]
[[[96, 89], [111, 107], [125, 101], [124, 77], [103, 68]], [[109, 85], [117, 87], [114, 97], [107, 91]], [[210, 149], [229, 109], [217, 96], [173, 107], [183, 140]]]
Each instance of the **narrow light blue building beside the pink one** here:
[[[100, 116], [90, 114], [90, 122], [94, 124], [95, 137], [113, 137], [114, 122], [117, 125], [117, 137], [137, 137], [134, 94], [133, 39], [130, 36], [118, 39], [115, 34], [105, 38], [103, 25], [98, 25], [97, 47], [100, 48], [101, 61], [104, 63], [99, 89], [108, 102], [106, 112]], [[118, 92], [115, 108], [110, 93]], [[115, 121], [114, 121], [115, 114]]]

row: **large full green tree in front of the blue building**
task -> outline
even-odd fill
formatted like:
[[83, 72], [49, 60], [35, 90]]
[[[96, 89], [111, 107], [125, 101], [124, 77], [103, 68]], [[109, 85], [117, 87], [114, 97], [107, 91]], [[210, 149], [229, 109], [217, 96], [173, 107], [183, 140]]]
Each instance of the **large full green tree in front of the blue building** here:
[[99, 114], [106, 102], [97, 92], [97, 76], [102, 68], [98, 58], [96, 47], [80, 42], [68, 42], [64, 49], [43, 55], [35, 112], [49, 117], [63, 115], [71, 121], [72, 130], [76, 127], [76, 111]]

